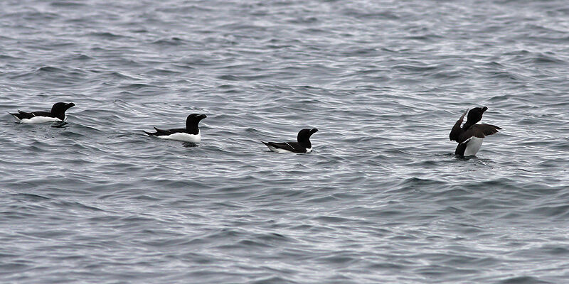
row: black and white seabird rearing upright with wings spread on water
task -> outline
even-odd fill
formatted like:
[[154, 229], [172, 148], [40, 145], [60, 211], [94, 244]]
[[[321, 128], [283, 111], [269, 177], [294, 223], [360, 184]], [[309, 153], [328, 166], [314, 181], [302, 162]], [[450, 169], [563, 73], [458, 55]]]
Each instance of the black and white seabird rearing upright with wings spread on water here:
[[[480, 150], [480, 146], [482, 146], [482, 139], [497, 133], [498, 129], [501, 129], [491, 124], [477, 124], [477, 122], [482, 119], [482, 114], [484, 114], [486, 109], [488, 108], [475, 107], [470, 111], [467, 109], [467, 111], [464, 111], [464, 114], [460, 116], [457, 123], [454, 124], [449, 134], [450, 141], [458, 142], [457, 150], [454, 151], [454, 155], [476, 155]], [[464, 123], [464, 126], [460, 127], [467, 112], [467, 122]]]

